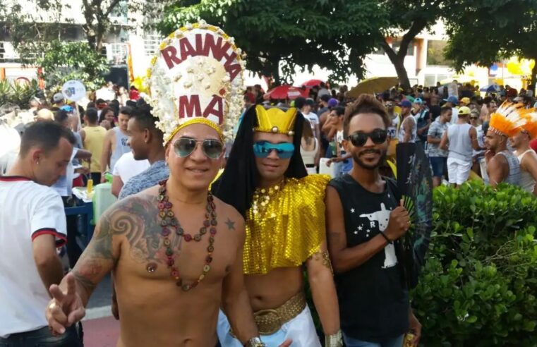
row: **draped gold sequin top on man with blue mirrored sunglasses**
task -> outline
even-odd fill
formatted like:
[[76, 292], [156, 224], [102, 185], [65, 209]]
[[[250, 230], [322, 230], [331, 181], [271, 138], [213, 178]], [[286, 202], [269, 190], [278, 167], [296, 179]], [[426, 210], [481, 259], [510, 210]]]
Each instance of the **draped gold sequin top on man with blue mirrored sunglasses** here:
[[246, 212], [244, 274], [267, 274], [278, 267], [298, 267], [325, 241], [327, 175], [285, 178], [255, 191]]

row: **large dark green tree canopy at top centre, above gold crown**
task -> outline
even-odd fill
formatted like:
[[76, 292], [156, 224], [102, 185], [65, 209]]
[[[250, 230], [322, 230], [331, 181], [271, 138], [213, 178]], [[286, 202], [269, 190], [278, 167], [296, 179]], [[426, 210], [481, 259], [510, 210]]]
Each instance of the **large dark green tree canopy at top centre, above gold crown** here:
[[371, 32], [387, 25], [374, 0], [179, 0], [167, 6], [159, 29], [167, 35], [200, 18], [234, 37], [248, 54], [248, 69], [277, 84], [289, 82], [296, 66], [315, 64], [337, 81], [361, 77], [363, 58], [378, 44]]

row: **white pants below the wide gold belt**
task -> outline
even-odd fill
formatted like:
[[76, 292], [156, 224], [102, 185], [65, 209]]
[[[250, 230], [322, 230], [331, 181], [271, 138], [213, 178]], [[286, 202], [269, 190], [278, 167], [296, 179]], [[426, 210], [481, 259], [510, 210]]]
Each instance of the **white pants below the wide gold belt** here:
[[[230, 328], [231, 326], [229, 325], [226, 315], [220, 310], [217, 327], [220, 344], [222, 347], [242, 347], [243, 344], [241, 341], [235, 339], [229, 333]], [[263, 341], [267, 347], [278, 347], [286, 339], [293, 340], [291, 347], [321, 346], [308, 306], [306, 306], [298, 316], [282, 325], [282, 328], [274, 334], [261, 336], [261, 341]]]

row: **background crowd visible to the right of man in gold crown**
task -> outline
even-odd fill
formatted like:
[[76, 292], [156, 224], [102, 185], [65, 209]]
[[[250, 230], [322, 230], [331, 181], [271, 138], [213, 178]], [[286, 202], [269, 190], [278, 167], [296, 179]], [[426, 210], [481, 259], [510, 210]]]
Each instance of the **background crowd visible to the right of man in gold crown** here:
[[[537, 194], [534, 190], [537, 139], [531, 131], [535, 120], [518, 127], [519, 132], [500, 135], [497, 141], [494, 135], [488, 136], [490, 118], [504, 102], [517, 104], [532, 113], [536, 100], [526, 90], [517, 92], [509, 86], [500, 86], [499, 92], [484, 97], [478, 86], [459, 84], [458, 87], [459, 93], [449, 97], [445, 95], [447, 87], [442, 86], [415, 85], [407, 92], [395, 86], [378, 93], [377, 99], [392, 120], [388, 127], [391, 141], [387, 158], [394, 161], [397, 143], [415, 142], [428, 154], [435, 186], [442, 183], [458, 186], [469, 179], [482, 179], [494, 186], [501, 182], [519, 185]], [[347, 173], [352, 162], [343, 145], [343, 116], [346, 105], [353, 100], [345, 97], [346, 87], [341, 87], [339, 92], [332, 90], [331, 96], [318, 97], [316, 92], [312, 90], [308, 99], [299, 97], [289, 105], [283, 104], [301, 109], [309, 122], [306, 128], [310, 126], [311, 131], [304, 132], [301, 146], [304, 162], [311, 173], [326, 172], [326, 166], [331, 163], [342, 163], [335, 170], [337, 174]], [[513, 155], [518, 158], [518, 164]], [[322, 161], [322, 158], [329, 160]], [[390, 175], [389, 171], [383, 173]]]

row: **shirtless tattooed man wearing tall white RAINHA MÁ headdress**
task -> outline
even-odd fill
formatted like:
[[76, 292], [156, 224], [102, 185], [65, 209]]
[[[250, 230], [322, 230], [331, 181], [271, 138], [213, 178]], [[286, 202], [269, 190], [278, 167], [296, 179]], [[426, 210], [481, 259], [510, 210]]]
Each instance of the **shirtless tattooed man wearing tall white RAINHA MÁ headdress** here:
[[[241, 74], [225, 71], [224, 63], [242, 68], [240, 58], [229, 42], [220, 48], [225, 56], [216, 51], [216, 44], [195, 55], [179, 43], [179, 38], [191, 45], [200, 39], [219, 44], [227, 40], [222, 30], [206, 28], [206, 23], [197, 23], [176, 30], [171, 37], [177, 39], [167, 39], [153, 60], [148, 84], [155, 96], [151, 102], [157, 126], [166, 141], [169, 179], [119, 200], [104, 213], [73, 272], [60, 286], [50, 288], [46, 316], [56, 333], [83, 317], [95, 286], [113, 271], [121, 317], [117, 346], [215, 346], [220, 307], [242, 344], [264, 346], [255, 337], [258, 329], [243, 283], [244, 221], [233, 207], [208, 192], [222, 165], [221, 127], [232, 129], [228, 115], [241, 107], [236, 103], [241, 101]], [[167, 60], [178, 51], [181, 60]], [[177, 68], [168, 63], [178, 64]], [[174, 75], [179, 71], [181, 80]], [[207, 77], [210, 88], [183, 83], [202, 73], [213, 76]], [[237, 76], [239, 80], [234, 80]], [[162, 83], [168, 79], [175, 83]], [[220, 109], [219, 116], [212, 116], [218, 110], [210, 108], [215, 99], [211, 87], [223, 90], [227, 114]], [[159, 95], [174, 95], [178, 104]], [[186, 106], [192, 95], [196, 108]], [[208, 109], [207, 116], [198, 108]]]

